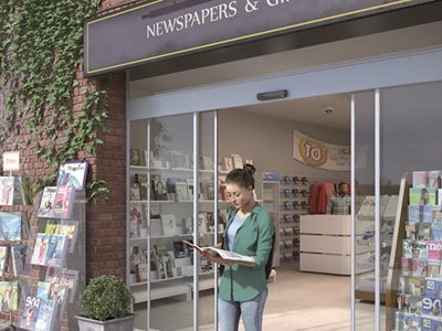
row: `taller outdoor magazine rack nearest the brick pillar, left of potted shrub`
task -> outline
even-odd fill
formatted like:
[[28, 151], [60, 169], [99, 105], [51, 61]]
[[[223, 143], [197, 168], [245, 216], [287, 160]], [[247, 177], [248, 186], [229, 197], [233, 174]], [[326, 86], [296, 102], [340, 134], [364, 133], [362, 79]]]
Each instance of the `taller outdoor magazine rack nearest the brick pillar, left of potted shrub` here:
[[[84, 170], [84, 161], [80, 161], [80, 163], [78, 161], [76, 162], [81, 164], [77, 169], [83, 168]], [[87, 166], [85, 169], [87, 170]], [[86, 170], [83, 178], [85, 178]], [[80, 313], [80, 310], [76, 302], [78, 302], [78, 293], [84, 291], [85, 288], [86, 193], [84, 180], [83, 182], [78, 182], [76, 181], [76, 174], [70, 177], [66, 174], [67, 172], [69, 171], [64, 169], [59, 173], [59, 177], [62, 179], [59, 179], [59, 182], [62, 184], [57, 186], [56, 192], [59, 193], [60, 190], [61, 193], [59, 196], [52, 194], [52, 200], [49, 204], [45, 204], [49, 195], [45, 197], [44, 192], [46, 190], [44, 190], [41, 199], [44, 203], [40, 202], [39, 204], [40, 206], [44, 205], [44, 209], [39, 209], [38, 212], [38, 231], [36, 233], [29, 232], [28, 235], [28, 254], [23, 271], [24, 277], [19, 277], [22, 278], [19, 280], [19, 285], [21, 289], [21, 299], [24, 301], [24, 303], [21, 305], [23, 307], [23, 312], [19, 316], [20, 320], [18, 325], [20, 325], [20, 330], [33, 329], [36, 322], [42, 321], [44, 321], [45, 328], [50, 328], [51, 331], [61, 330], [62, 324], [64, 328], [67, 325], [69, 330], [77, 330], [77, 323], [74, 317]], [[41, 210], [51, 212], [45, 214], [41, 213]], [[52, 226], [48, 226], [50, 222]], [[72, 236], [71, 241], [67, 239], [70, 236]], [[44, 247], [43, 237], [46, 238]], [[39, 242], [39, 239], [41, 242]], [[42, 254], [42, 252], [44, 253]], [[35, 257], [38, 258], [35, 259]], [[50, 275], [51, 282], [48, 282], [49, 279], [46, 278], [46, 273], [50, 268], [49, 265], [51, 265], [55, 271], [54, 275]], [[39, 270], [38, 275], [35, 275], [35, 270]], [[40, 284], [39, 281], [46, 282]], [[71, 282], [73, 287], [69, 289], [67, 285]], [[39, 285], [44, 286], [39, 288]], [[52, 298], [54, 305], [46, 303], [51, 302], [51, 299], [49, 299], [50, 293], [54, 296]], [[39, 299], [36, 299], [38, 295], [44, 295], [48, 299], [39, 301]], [[34, 308], [41, 310], [42, 307], [43, 312], [38, 312], [36, 316], [34, 312], [34, 316], [32, 316], [32, 310], [35, 310]], [[60, 308], [63, 308], [63, 310], [60, 310]], [[24, 311], [30, 312], [30, 314], [25, 316]], [[23, 321], [27, 322], [25, 328], [22, 327]]]

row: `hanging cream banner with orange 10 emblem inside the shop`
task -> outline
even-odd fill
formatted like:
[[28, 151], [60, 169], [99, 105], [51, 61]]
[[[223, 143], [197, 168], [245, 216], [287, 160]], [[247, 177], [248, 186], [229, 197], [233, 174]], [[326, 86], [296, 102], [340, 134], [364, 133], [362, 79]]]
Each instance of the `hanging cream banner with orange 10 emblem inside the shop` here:
[[350, 147], [332, 145], [293, 130], [293, 158], [313, 168], [349, 171]]

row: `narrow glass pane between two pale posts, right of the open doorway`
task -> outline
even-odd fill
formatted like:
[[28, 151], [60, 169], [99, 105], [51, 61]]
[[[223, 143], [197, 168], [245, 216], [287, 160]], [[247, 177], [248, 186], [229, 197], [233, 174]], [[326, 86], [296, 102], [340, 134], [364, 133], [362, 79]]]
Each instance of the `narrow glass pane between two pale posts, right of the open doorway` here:
[[375, 330], [375, 93], [355, 97], [356, 330]]

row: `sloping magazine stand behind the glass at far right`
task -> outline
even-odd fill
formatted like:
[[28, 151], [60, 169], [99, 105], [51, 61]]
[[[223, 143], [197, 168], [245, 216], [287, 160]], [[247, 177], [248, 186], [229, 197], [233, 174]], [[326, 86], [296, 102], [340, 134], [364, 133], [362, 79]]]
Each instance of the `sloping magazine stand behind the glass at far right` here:
[[386, 330], [441, 330], [441, 197], [440, 171], [402, 177], [386, 285]]

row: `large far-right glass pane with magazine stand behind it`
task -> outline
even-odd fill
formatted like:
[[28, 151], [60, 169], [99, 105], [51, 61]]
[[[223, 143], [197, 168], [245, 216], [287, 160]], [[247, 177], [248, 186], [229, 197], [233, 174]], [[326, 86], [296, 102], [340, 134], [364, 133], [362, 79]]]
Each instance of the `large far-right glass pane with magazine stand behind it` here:
[[[381, 330], [442, 325], [441, 92], [441, 82], [381, 89], [381, 194], [390, 196], [383, 209], [382, 256], [386, 261], [391, 256], [394, 266], [380, 280], [387, 288]], [[393, 226], [398, 236], [391, 239]]]

